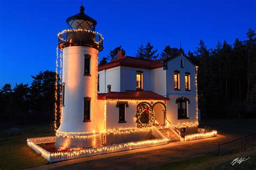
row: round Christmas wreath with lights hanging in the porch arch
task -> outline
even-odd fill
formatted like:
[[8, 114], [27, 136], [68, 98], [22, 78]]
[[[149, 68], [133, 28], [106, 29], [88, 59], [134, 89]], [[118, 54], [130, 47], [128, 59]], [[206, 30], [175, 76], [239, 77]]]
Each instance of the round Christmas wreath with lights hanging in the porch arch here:
[[[141, 120], [142, 114], [149, 115], [149, 121], [147, 123], [143, 123]], [[154, 111], [152, 110], [151, 107], [148, 105], [140, 105], [137, 109], [137, 114], [136, 114], [136, 123], [138, 128], [148, 128], [151, 127], [153, 122], [154, 122]]]

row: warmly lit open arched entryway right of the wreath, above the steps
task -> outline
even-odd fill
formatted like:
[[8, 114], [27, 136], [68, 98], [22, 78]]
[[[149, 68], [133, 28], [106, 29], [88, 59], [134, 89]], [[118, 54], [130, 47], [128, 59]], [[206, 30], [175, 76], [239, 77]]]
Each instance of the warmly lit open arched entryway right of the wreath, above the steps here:
[[160, 125], [165, 125], [166, 118], [166, 105], [162, 102], [157, 102], [153, 104], [153, 111], [156, 117], [156, 121]]

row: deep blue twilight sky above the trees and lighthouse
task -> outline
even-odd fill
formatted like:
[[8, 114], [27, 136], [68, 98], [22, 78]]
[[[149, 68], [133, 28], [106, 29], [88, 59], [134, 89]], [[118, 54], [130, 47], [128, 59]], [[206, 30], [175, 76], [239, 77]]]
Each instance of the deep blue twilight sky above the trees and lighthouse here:
[[[66, 18], [79, 12], [80, 0], [0, 0], [0, 88], [5, 83], [31, 83], [40, 70], [55, 70], [57, 33]], [[104, 51], [119, 45], [134, 56], [151, 42], [158, 52], [166, 45], [194, 51], [200, 39], [208, 48], [217, 41], [233, 44], [256, 27], [255, 0], [87, 1], [85, 13], [96, 19]]]

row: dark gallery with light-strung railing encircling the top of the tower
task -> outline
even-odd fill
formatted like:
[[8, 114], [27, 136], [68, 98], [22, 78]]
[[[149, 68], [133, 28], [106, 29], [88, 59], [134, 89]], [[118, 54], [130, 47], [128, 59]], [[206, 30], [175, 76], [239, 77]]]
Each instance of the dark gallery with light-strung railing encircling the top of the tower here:
[[102, 34], [90, 30], [64, 30], [58, 33], [58, 45], [62, 49], [65, 46], [89, 45], [103, 50]]

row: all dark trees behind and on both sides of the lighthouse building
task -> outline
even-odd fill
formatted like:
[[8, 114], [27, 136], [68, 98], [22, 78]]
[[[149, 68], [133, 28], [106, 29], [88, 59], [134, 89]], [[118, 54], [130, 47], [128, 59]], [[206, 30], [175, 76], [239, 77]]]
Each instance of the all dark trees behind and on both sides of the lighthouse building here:
[[[200, 40], [196, 51], [187, 56], [199, 66], [198, 97], [203, 118], [255, 118], [256, 117], [256, 38], [249, 29], [246, 40], [235, 39], [232, 45], [217, 42], [207, 48]], [[117, 59], [118, 46], [100, 60], [103, 65]], [[182, 48], [167, 45], [157, 54], [148, 42], [138, 47], [137, 58], [156, 60], [172, 57]], [[0, 90], [0, 122], [46, 123], [53, 122], [55, 112], [56, 73], [46, 70], [32, 76], [29, 84], [5, 84]], [[58, 80], [58, 91], [61, 86]], [[59, 114], [60, 93], [57, 93]], [[58, 116], [57, 116], [58, 117]]]

